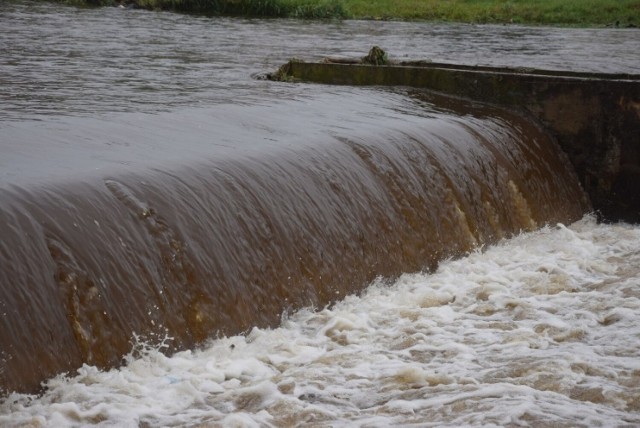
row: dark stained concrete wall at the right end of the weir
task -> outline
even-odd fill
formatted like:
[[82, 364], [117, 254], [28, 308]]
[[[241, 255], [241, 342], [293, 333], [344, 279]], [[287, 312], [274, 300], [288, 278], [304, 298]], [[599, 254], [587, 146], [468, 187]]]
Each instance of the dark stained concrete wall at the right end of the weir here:
[[640, 75], [327, 59], [292, 60], [277, 77], [410, 86], [517, 109], [555, 136], [601, 219], [640, 223]]

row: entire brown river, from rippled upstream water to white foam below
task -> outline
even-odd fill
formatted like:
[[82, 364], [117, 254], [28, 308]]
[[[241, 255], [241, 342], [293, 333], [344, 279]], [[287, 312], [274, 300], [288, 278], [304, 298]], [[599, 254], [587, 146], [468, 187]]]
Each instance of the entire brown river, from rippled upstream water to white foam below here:
[[3, 2], [0, 425], [640, 424], [640, 229], [544, 132], [256, 79], [373, 44], [638, 73], [637, 35]]

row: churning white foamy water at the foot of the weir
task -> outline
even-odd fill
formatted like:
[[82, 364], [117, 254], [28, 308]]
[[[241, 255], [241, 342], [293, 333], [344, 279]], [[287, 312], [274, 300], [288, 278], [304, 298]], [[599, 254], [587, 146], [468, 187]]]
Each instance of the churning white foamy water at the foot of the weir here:
[[640, 228], [585, 218], [274, 330], [84, 366], [2, 426], [634, 426]]

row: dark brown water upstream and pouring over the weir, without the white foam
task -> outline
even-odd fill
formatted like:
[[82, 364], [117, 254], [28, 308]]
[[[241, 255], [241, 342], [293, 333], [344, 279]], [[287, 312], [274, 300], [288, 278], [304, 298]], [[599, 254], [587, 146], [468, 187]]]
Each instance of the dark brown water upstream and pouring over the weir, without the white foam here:
[[253, 78], [373, 43], [399, 59], [636, 72], [639, 41], [2, 3], [0, 387], [117, 365], [134, 335], [184, 349], [273, 326], [588, 210], [555, 142], [516, 114]]

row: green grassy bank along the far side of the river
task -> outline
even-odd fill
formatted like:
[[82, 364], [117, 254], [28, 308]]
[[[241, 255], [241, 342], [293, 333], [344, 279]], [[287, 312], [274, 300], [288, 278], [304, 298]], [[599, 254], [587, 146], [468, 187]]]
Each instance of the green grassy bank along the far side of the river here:
[[57, 0], [211, 15], [640, 26], [640, 0]]

